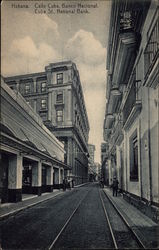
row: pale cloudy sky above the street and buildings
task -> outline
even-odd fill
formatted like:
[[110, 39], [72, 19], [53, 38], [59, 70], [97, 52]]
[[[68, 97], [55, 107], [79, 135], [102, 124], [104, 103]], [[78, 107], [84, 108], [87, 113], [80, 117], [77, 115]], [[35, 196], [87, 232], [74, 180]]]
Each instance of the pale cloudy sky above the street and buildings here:
[[[23, 8], [17, 7], [18, 4]], [[79, 8], [80, 4], [85, 6]], [[106, 106], [110, 7], [109, 0], [1, 4], [2, 75], [41, 72], [49, 63], [72, 60], [83, 88], [90, 124], [89, 143], [95, 145], [95, 162], [99, 163]]]

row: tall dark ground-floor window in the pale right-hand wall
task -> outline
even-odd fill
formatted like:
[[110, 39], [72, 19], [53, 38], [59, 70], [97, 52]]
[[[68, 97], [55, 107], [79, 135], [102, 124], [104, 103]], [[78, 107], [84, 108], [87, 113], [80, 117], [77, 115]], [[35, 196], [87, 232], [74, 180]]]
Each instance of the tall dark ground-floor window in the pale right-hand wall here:
[[137, 133], [130, 139], [130, 181], [138, 181], [138, 139]]

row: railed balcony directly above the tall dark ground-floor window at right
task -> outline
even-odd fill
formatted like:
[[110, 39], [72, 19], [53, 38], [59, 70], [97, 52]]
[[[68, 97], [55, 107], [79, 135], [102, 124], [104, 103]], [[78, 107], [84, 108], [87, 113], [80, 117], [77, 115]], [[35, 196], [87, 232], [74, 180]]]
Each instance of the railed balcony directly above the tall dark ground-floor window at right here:
[[123, 125], [124, 129], [131, 126], [133, 121], [141, 112], [141, 81], [136, 81], [135, 76], [133, 76], [132, 84], [128, 90], [127, 98], [123, 107]]

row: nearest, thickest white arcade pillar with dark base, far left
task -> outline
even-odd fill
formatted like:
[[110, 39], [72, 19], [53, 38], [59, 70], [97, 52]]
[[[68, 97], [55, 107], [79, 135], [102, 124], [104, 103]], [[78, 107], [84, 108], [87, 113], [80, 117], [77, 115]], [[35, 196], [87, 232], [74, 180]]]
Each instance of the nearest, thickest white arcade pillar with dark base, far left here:
[[8, 168], [8, 201], [22, 200], [22, 156], [9, 156]]

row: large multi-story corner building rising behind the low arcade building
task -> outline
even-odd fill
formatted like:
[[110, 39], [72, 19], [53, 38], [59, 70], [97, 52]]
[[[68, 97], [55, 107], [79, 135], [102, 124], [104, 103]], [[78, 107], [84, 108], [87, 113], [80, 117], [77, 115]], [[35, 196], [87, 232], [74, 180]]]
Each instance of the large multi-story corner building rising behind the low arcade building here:
[[44, 72], [6, 77], [5, 82], [23, 95], [64, 143], [65, 163], [72, 167], [69, 177], [76, 184], [87, 181], [89, 122], [76, 65], [51, 63]]

